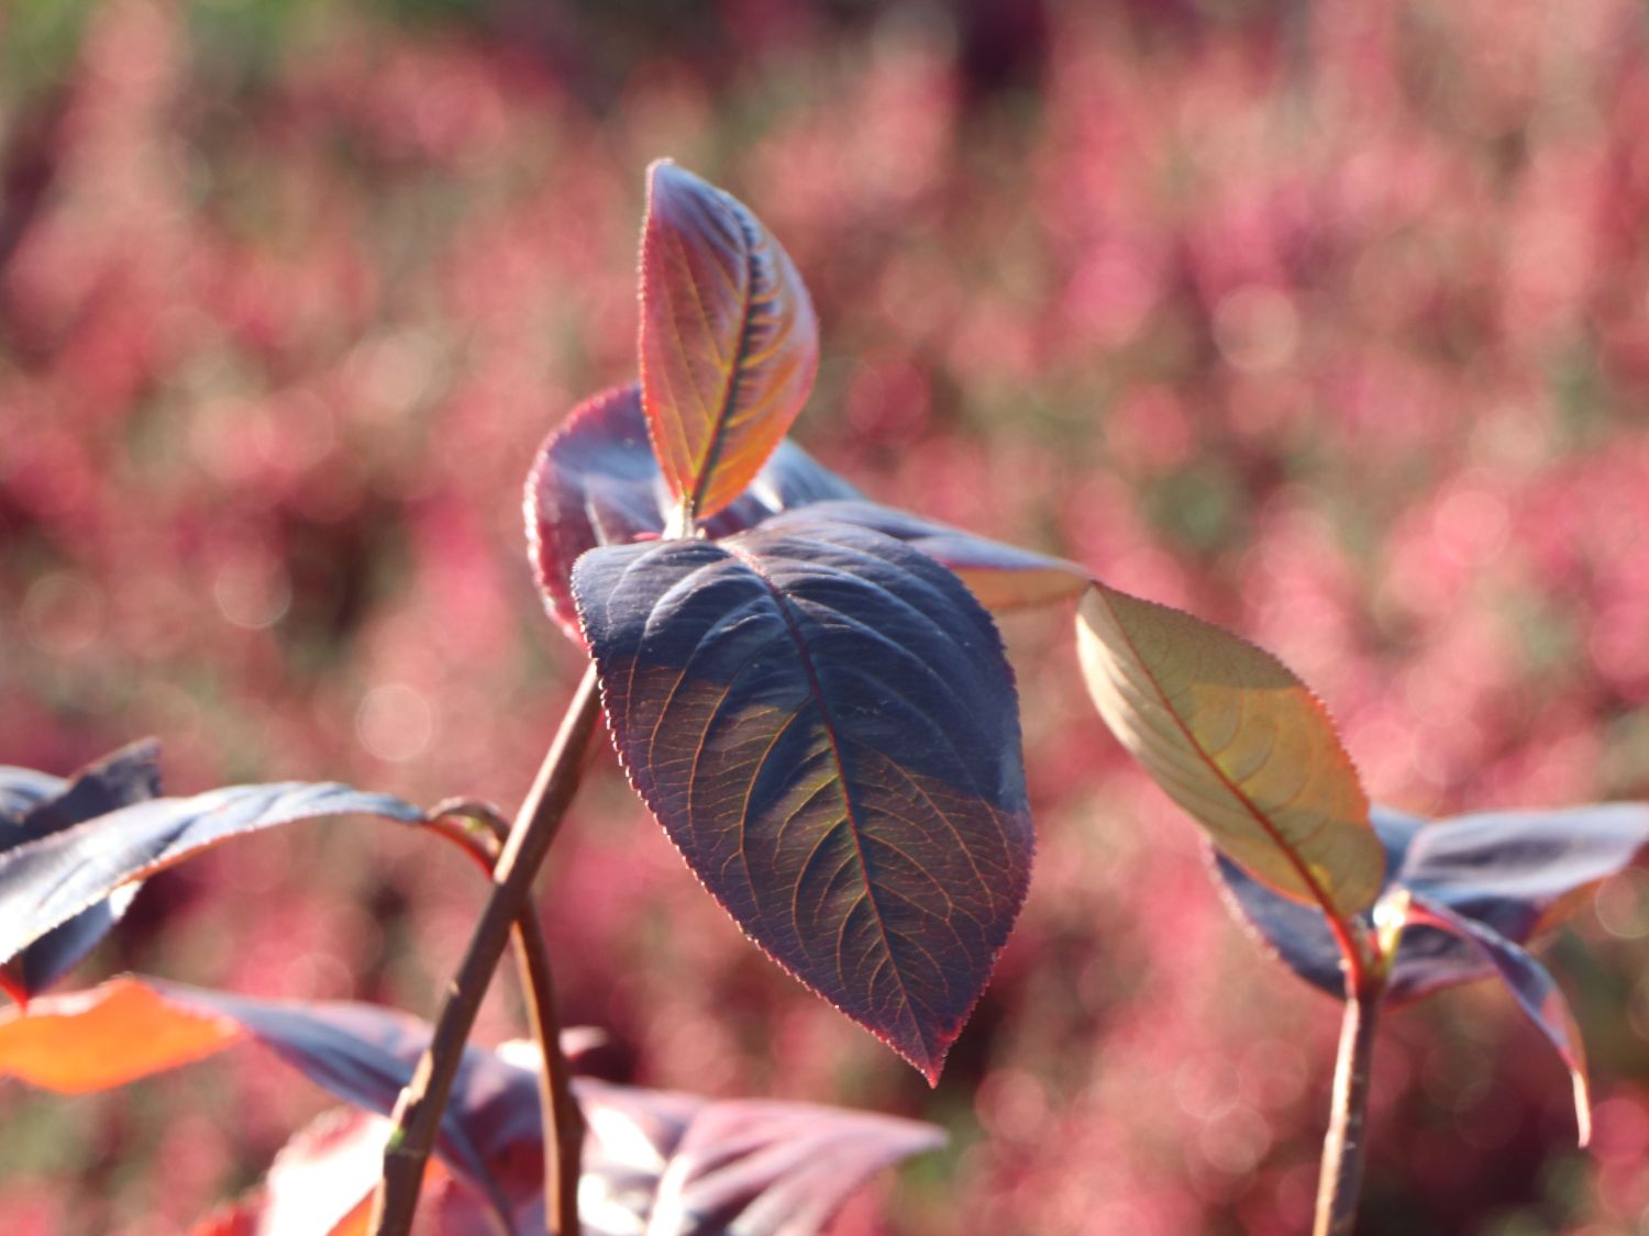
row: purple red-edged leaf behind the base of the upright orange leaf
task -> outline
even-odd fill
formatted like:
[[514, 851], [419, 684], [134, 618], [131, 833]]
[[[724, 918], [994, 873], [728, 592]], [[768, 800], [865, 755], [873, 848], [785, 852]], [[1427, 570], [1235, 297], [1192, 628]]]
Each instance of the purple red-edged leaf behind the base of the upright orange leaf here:
[[[712, 537], [727, 536], [792, 506], [857, 496], [787, 438], [750, 488], [702, 527]], [[579, 404], [539, 448], [526, 483], [528, 555], [551, 616], [574, 639], [582, 643], [584, 634], [567, 583], [572, 564], [595, 545], [660, 536], [669, 504], [635, 382]]]

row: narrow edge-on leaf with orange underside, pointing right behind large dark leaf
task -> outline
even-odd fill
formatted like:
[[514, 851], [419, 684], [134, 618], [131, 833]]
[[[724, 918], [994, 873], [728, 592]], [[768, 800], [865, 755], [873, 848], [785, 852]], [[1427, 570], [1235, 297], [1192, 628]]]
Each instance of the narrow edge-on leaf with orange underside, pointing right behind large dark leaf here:
[[867, 501], [820, 501], [767, 521], [773, 529], [829, 519], [895, 537], [955, 572], [986, 610], [1069, 600], [1088, 587], [1085, 567]]

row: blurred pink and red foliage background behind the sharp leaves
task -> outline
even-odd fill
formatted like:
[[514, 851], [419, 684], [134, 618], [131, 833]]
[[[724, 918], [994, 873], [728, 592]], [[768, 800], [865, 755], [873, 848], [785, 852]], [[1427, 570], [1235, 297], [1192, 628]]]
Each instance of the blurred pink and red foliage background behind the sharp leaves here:
[[[1421, 812], [1649, 798], [1649, 18], [1634, 0], [10, 0], [0, 761], [513, 806], [574, 682], [521, 481], [633, 372], [643, 168], [783, 239], [800, 440], [872, 496], [1224, 621]], [[610, 1076], [938, 1121], [843, 1233], [1298, 1233], [1336, 1012], [1011, 616], [1039, 868], [928, 1091], [760, 957], [605, 751], [544, 878]], [[420, 1014], [460, 857], [317, 824], [82, 967]], [[1649, 877], [1390, 1018], [1362, 1231], [1649, 1231]], [[514, 1033], [508, 981], [482, 1033]], [[327, 1106], [246, 1050], [0, 1089], [0, 1228], [173, 1233]]]

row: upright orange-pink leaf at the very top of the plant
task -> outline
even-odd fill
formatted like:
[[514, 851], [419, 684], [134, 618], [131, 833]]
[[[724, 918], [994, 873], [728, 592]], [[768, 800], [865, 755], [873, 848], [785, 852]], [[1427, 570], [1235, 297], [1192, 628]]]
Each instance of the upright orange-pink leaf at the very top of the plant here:
[[790, 255], [727, 193], [669, 160], [641, 224], [641, 405], [673, 498], [712, 516], [755, 480], [818, 371]]

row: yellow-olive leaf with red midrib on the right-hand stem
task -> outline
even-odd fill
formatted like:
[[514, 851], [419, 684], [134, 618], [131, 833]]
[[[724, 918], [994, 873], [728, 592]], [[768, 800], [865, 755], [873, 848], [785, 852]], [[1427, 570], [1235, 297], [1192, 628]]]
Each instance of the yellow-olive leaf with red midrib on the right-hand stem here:
[[1095, 583], [1082, 671], [1118, 740], [1227, 855], [1341, 923], [1374, 905], [1385, 852], [1322, 704], [1270, 653]]

